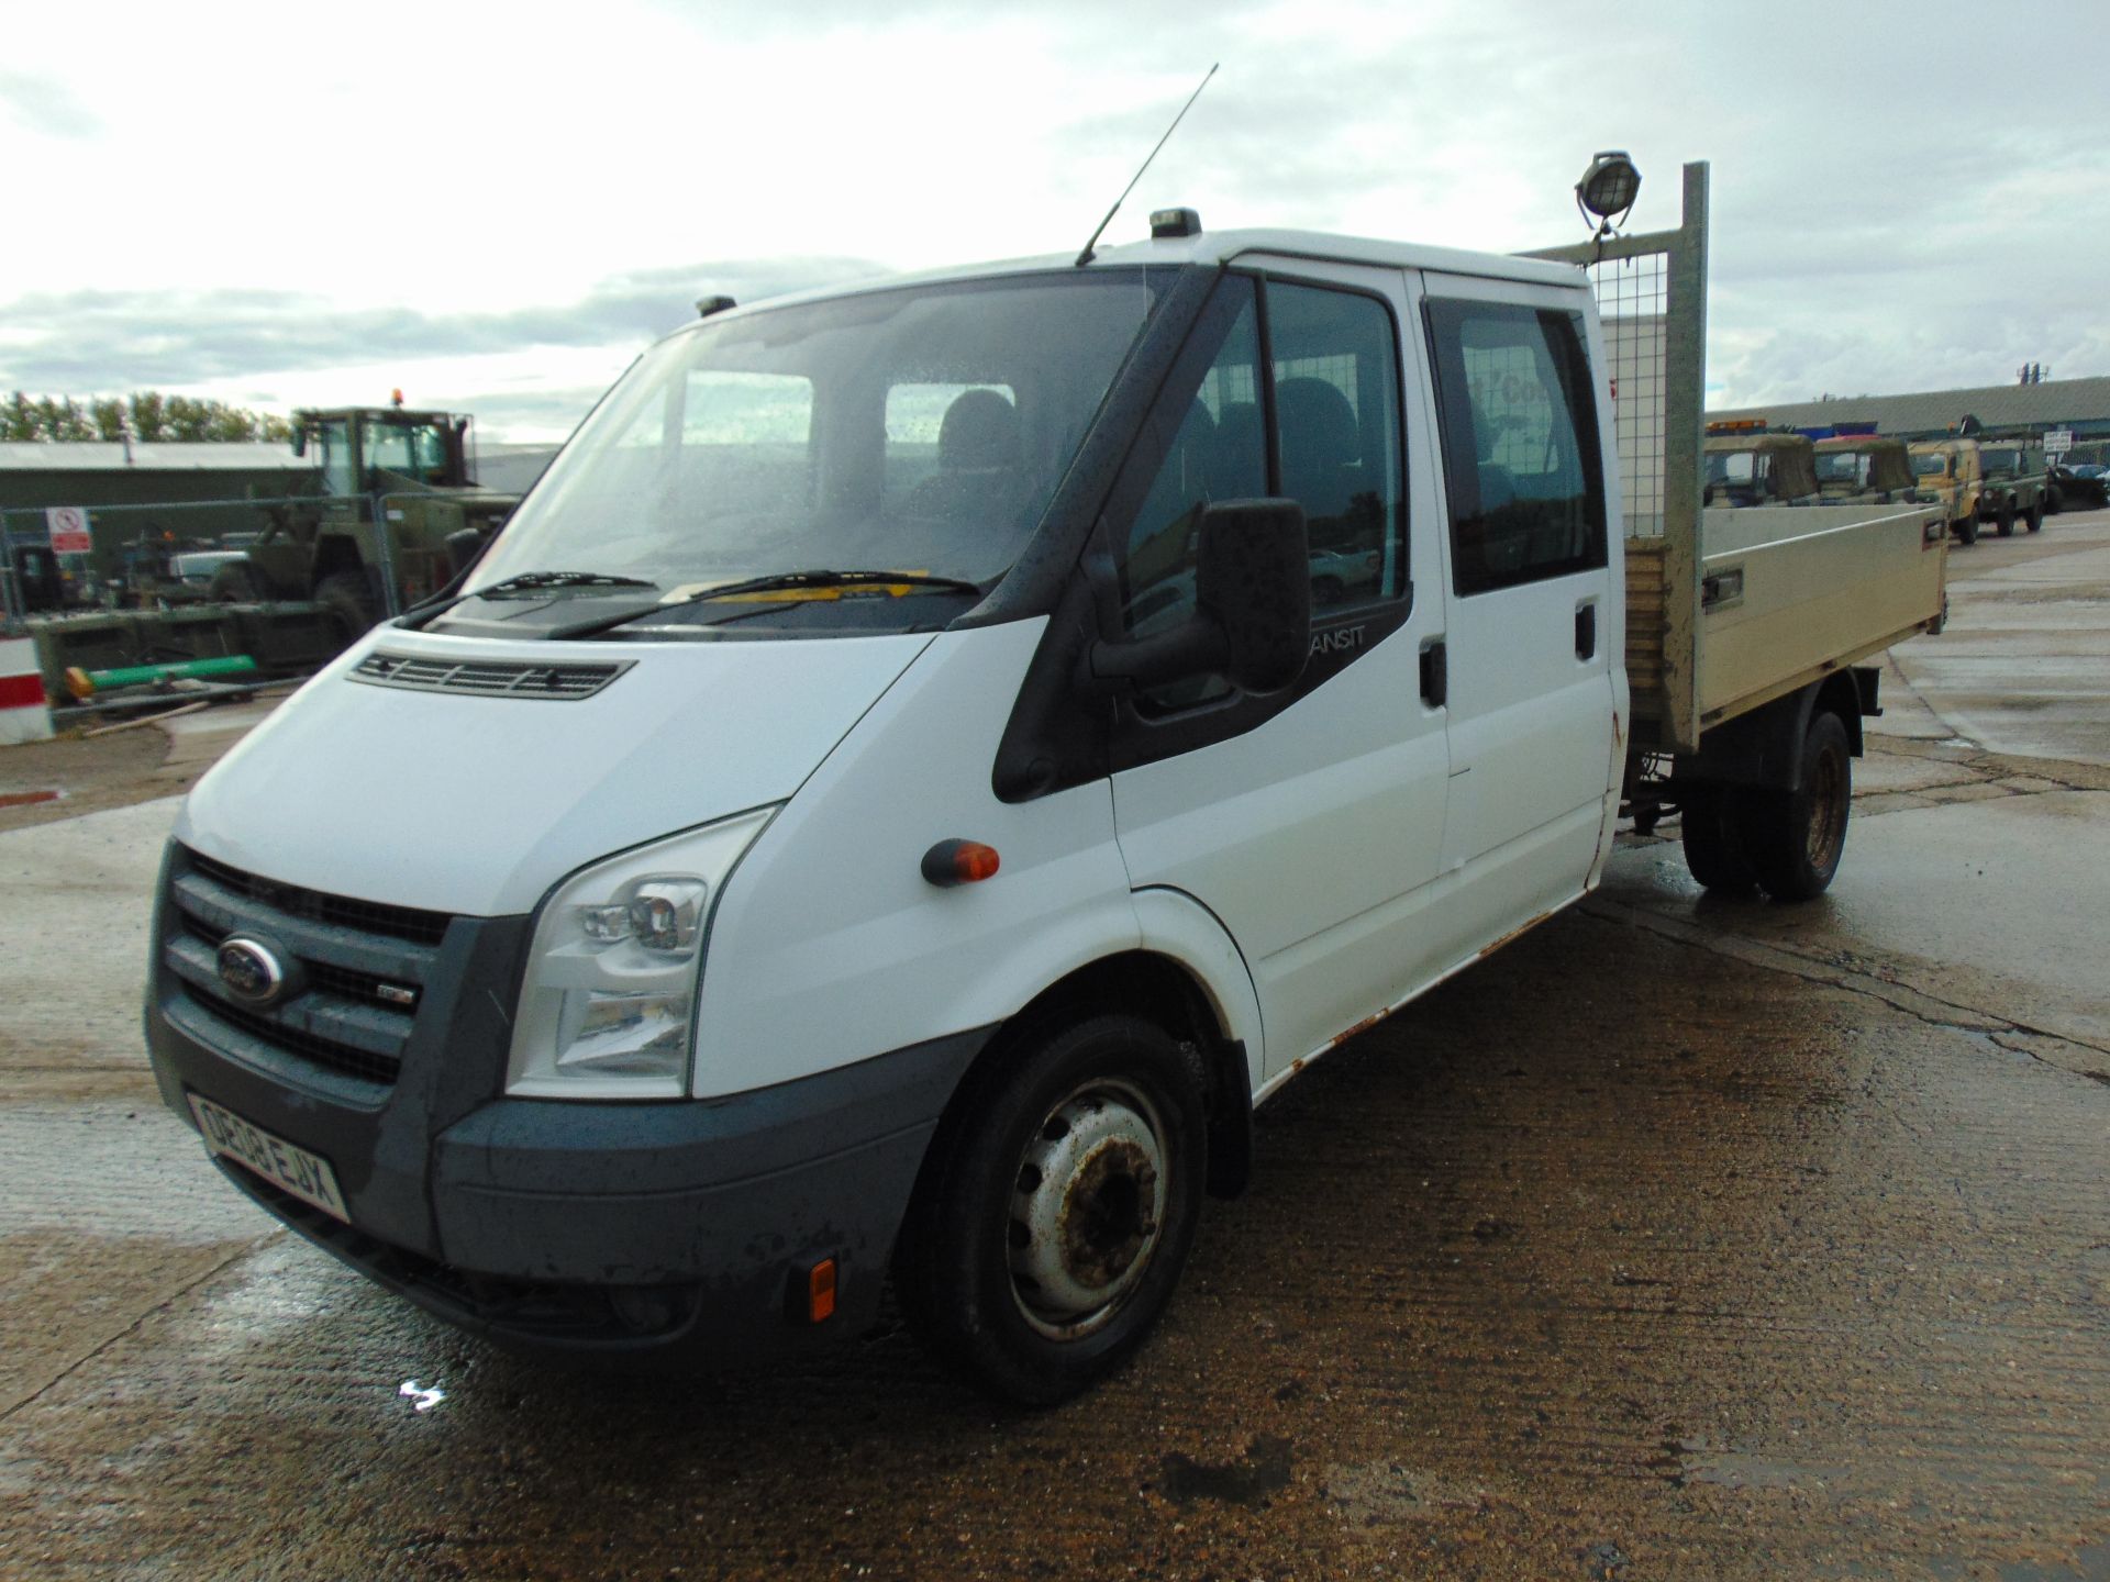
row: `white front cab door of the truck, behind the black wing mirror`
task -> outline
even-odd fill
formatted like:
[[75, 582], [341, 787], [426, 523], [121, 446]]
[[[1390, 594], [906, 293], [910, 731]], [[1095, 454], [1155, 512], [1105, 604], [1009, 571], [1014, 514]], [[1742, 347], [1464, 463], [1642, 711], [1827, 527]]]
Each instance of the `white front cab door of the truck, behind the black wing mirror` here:
[[1268, 1076], [1437, 970], [1424, 907], [1450, 768], [1418, 686], [1443, 597], [1428, 468], [1407, 468], [1405, 278], [1281, 270], [1222, 281], [1097, 555], [1110, 635], [1148, 637], [1194, 607], [1203, 504], [1287, 496], [1306, 513], [1304, 677], [1260, 698], [1213, 677], [1158, 688], [1118, 700], [1112, 732], [1131, 884], [1194, 896], [1236, 939]]

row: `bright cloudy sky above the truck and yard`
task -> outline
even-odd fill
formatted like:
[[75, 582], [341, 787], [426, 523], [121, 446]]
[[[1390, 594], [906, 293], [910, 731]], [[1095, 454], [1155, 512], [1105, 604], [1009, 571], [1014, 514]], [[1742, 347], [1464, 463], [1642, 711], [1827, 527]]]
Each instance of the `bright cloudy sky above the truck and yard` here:
[[1713, 177], [1709, 405], [2110, 373], [2110, 4], [597, 0], [19, 8], [0, 390], [561, 439], [705, 293], [1156, 207], [1515, 251]]

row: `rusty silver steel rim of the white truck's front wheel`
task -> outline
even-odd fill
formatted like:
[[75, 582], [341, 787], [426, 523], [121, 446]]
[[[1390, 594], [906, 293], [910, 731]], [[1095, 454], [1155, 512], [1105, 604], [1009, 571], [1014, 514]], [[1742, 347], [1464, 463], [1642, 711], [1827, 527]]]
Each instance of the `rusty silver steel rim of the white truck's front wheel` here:
[[1093, 1078], [1034, 1126], [1009, 1204], [1011, 1295], [1032, 1329], [1080, 1339], [1150, 1272], [1171, 1196], [1165, 1118], [1133, 1082]]

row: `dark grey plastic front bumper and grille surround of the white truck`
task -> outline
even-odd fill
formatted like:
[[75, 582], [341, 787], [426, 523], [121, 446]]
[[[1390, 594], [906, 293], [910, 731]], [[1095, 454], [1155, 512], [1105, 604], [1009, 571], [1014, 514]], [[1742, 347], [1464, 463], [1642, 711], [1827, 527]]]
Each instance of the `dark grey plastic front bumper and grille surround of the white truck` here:
[[[329, 1160], [348, 1226], [215, 1160], [308, 1240], [462, 1329], [565, 1361], [711, 1367], [876, 1316], [931, 1133], [987, 1029], [726, 1099], [509, 1099], [530, 920], [454, 918], [411, 964], [424, 981], [399, 1069], [371, 1080], [314, 1063], [184, 970], [198, 928], [171, 894], [192, 871], [173, 848], [146, 1008], [154, 1074], [186, 1122], [198, 1093]], [[241, 926], [295, 926], [211, 894]], [[787, 1293], [823, 1257], [838, 1310], [808, 1325]]]

